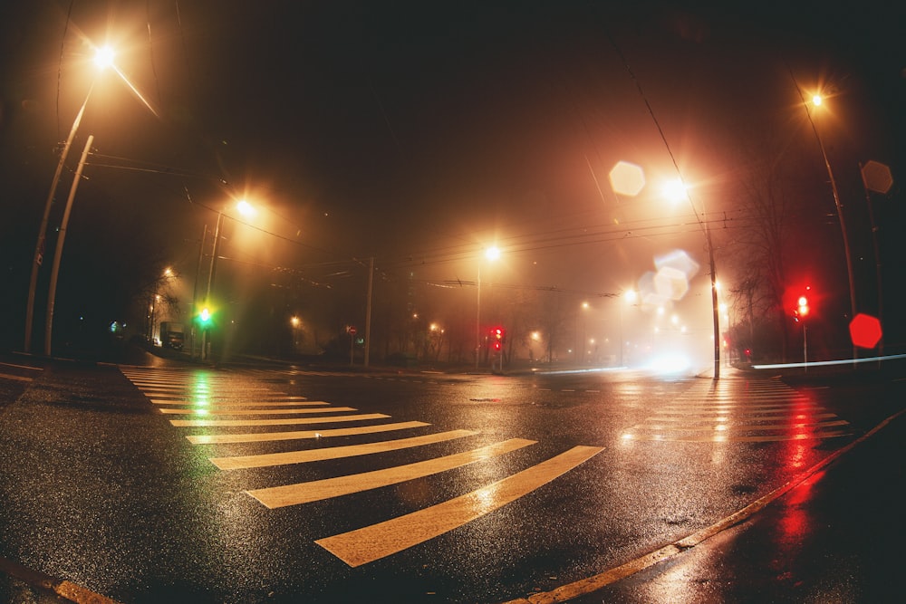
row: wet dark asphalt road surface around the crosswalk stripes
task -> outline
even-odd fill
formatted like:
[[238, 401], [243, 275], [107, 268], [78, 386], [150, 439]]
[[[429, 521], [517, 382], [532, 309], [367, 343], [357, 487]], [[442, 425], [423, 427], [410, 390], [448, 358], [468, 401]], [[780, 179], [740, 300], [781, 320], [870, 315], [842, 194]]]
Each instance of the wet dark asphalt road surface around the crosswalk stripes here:
[[[24, 382], [21, 392], [16, 389], [20, 380], [14, 388], [5, 386], [13, 388], [4, 391], [5, 397], [14, 398], [5, 398], [0, 409], [0, 463], [7, 468], [0, 478], [5, 503], [0, 555], [122, 602], [361, 601], [376, 594], [397, 601], [544, 599], [559, 587], [718, 523], [856, 442], [899, 410], [904, 399], [897, 382], [885, 388], [823, 388], [820, 383], [788, 388], [778, 380], [737, 378], [732, 387], [733, 380], [722, 380], [727, 389], [716, 392], [709, 390], [710, 380], [629, 374], [504, 378], [170, 369], [180, 379], [194, 379], [196, 394], [202, 383], [236, 402], [283, 392], [389, 416], [382, 421], [428, 424], [410, 428], [405, 436], [476, 433], [379, 455], [225, 471], [209, 458], [352, 446], [390, 436], [193, 445], [186, 436], [283, 428], [176, 427], [170, 421], [176, 416], [167, 417], [160, 408], [186, 407], [153, 404], [146, 396], [155, 388], [149, 384], [166, 381], [167, 371], [146, 370], [145, 381], [135, 374], [127, 379], [124, 371], [129, 370], [53, 364]], [[807, 424], [810, 434], [772, 439], [768, 436], [790, 436], [802, 428], [786, 421], [782, 429], [767, 429], [765, 421], [748, 421], [751, 429], [730, 430], [729, 437], [715, 442], [714, 427], [677, 426], [682, 414], [663, 413], [677, 401], [686, 415], [702, 406], [711, 406], [708, 413], [713, 413], [746, 396], [754, 405], [751, 391], [762, 382], [789, 401], [790, 413], [807, 416], [800, 424]], [[670, 429], [660, 430], [664, 425]], [[481, 463], [312, 503], [268, 509], [247, 493], [436, 460], [509, 439], [534, 444]], [[352, 567], [316, 543], [474, 493], [573, 447], [600, 451], [511, 503], [402, 551]], [[853, 451], [860, 448], [865, 446]], [[877, 472], [877, 483], [885, 470], [866, 463]], [[870, 474], [858, 467], [862, 470], [852, 475], [863, 486], [872, 484]], [[902, 477], [901, 460], [894, 473], [897, 467]], [[808, 493], [820, 492], [822, 484], [817, 481]], [[793, 503], [769, 506], [670, 561], [579, 599], [765, 601], [748, 589], [764, 583], [776, 586], [775, 595], [814, 593], [809, 591], [818, 580], [813, 575], [826, 580], [827, 571], [822, 574], [820, 557], [806, 554], [823, 551], [825, 537], [858, 545], [857, 536], [864, 534], [849, 529], [856, 523], [844, 523], [844, 529], [835, 524], [836, 532], [823, 530], [822, 514], [830, 518], [835, 510], [854, 509], [853, 501], [862, 503], [853, 499], [852, 490], [844, 492], [850, 499], [796, 515], [789, 510], [805, 505], [807, 497], [793, 491], [785, 496]], [[877, 524], [871, 528], [881, 528]], [[754, 541], [742, 547], [747, 535]], [[864, 569], [877, 566], [872, 561], [877, 548], [855, 545], [853, 559], [840, 564], [873, 578]], [[771, 551], [780, 552], [775, 563], [755, 563]], [[749, 564], [746, 552], [754, 552]], [[853, 574], [851, 593], [877, 595], [878, 590], [863, 588], [862, 575]], [[683, 580], [699, 589], [680, 590]], [[676, 598], [679, 594], [686, 599]]]

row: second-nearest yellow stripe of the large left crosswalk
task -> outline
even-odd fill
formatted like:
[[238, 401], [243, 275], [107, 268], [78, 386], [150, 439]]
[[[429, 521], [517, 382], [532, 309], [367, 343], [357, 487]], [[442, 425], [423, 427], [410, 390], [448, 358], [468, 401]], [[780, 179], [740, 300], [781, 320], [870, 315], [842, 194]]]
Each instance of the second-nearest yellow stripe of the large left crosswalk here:
[[390, 484], [399, 484], [415, 478], [421, 478], [439, 472], [452, 470], [462, 465], [474, 464], [495, 455], [503, 455], [524, 446], [534, 445], [534, 440], [510, 438], [493, 445], [483, 446], [472, 451], [454, 455], [436, 457], [408, 465], [397, 465], [384, 470], [362, 474], [337, 476], [309, 483], [286, 484], [265, 489], [246, 491], [266, 507], [274, 509], [286, 505], [310, 503], [331, 497], [359, 493]]

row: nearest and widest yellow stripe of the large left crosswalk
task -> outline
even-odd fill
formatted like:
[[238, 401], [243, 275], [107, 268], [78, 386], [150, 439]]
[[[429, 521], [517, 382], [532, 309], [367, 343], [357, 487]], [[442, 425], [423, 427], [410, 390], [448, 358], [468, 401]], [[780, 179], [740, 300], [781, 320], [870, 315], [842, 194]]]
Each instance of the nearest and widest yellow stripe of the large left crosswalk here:
[[472, 522], [564, 475], [602, 451], [575, 446], [541, 464], [444, 503], [315, 541], [352, 567], [380, 560]]

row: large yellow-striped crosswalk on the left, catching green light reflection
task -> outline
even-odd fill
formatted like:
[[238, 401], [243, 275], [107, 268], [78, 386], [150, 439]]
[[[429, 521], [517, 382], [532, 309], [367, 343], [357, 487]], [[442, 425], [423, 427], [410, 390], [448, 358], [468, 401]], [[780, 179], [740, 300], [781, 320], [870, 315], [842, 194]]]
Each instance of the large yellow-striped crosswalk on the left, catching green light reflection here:
[[[212, 428], [205, 434], [186, 436], [196, 446], [236, 443], [299, 441], [298, 450], [258, 455], [212, 455], [208, 459], [222, 471], [252, 470], [289, 464], [309, 464], [328, 459], [381, 455], [436, 443], [460, 445], [449, 455], [424, 457], [404, 465], [391, 465], [353, 475], [336, 475], [297, 484], [275, 484], [247, 489], [246, 494], [268, 509], [331, 500], [343, 495], [368, 492], [455, 468], [492, 463], [498, 457], [535, 445], [524, 438], [509, 438], [477, 448], [467, 441], [479, 433], [455, 429], [404, 436], [406, 431], [430, 429], [421, 421], [395, 421], [383, 413], [361, 413], [354, 407], [334, 407], [327, 401], [289, 396], [271, 388], [243, 382], [207, 369], [159, 369], [121, 366], [120, 371], [139, 388], [169, 423], [176, 428]], [[285, 417], [283, 417], [285, 416]], [[255, 428], [240, 432], [242, 428]], [[262, 428], [265, 427], [265, 428]], [[342, 446], [321, 446], [330, 436], [386, 435], [387, 440]], [[397, 436], [403, 437], [397, 437]], [[306, 441], [309, 441], [306, 444]], [[312, 442], [318, 443], [312, 446]], [[532, 493], [565, 475], [602, 451], [599, 446], [573, 446], [545, 461], [525, 468], [492, 484], [416, 512], [362, 526], [351, 532], [315, 541], [351, 567], [380, 560], [450, 532], [506, 503]]]

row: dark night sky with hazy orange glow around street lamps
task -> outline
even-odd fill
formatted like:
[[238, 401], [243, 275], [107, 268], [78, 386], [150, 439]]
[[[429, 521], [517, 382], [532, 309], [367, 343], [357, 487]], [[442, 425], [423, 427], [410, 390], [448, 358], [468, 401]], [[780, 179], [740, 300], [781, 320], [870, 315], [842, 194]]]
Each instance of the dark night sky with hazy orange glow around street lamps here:
[[[22, 303], [54, 145], [92, 85], [92, 44], [107, 42], [134, 91], [110, 72], [92, 90], [68, 164], [90, 133], [97, 155], [73, 220], [144, 225], [187, 273], [204, 225], [247, 197], [269, 243], [246, 260], [313, 281], [371, 256], [388, 274], [474, 279], [496, 243], [503, 283], [621, 292], [671, 249], [705, 260], [697, 216], [654, 183], [679, 166], [696, 211], [740, 228], [741, 183], [769, 134], [812, 154], [793, 268], [838, 279], [834, 202], [794, 77], [834, 93], [815, 118], [868, 256], [858, 164], [906, 175], [906, 14], [722, 4], [7, 2], [3, 308]], [[645, 169], [639, 197], [610, 187], [619, 160]], [[876, 200], [885, 264], [902, 261], [902, 202], [901, 185]], [[736, 238], [716, 236], [719, 249]]]

